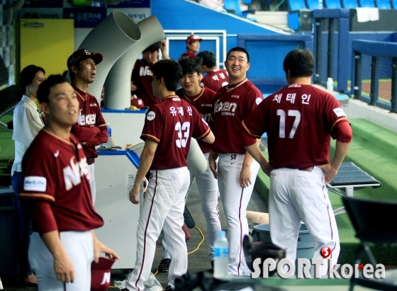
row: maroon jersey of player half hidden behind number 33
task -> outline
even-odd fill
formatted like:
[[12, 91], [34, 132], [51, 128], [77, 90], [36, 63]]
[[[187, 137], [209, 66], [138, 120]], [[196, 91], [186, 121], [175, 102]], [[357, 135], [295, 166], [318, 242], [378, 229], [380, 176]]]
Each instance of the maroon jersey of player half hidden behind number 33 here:
[[[198, 113], [200, 113], [203, 120], [206, 120], [206, 122], [210, 124], [213, 105], [216, 101], [216, 92], [208, 88], [203, 88], [203, 91], [196, 96], [186, 96], [184, 94], [184, 89], [178, 89], [175, 93], [177, 93], [177, 96], [180, 98], [191, 103], [191, 105], [197, 109]], [[204, 154], [211, 151], [211, 144], [208, 144], [208, 142], [198, 140], [197, 143]]]

